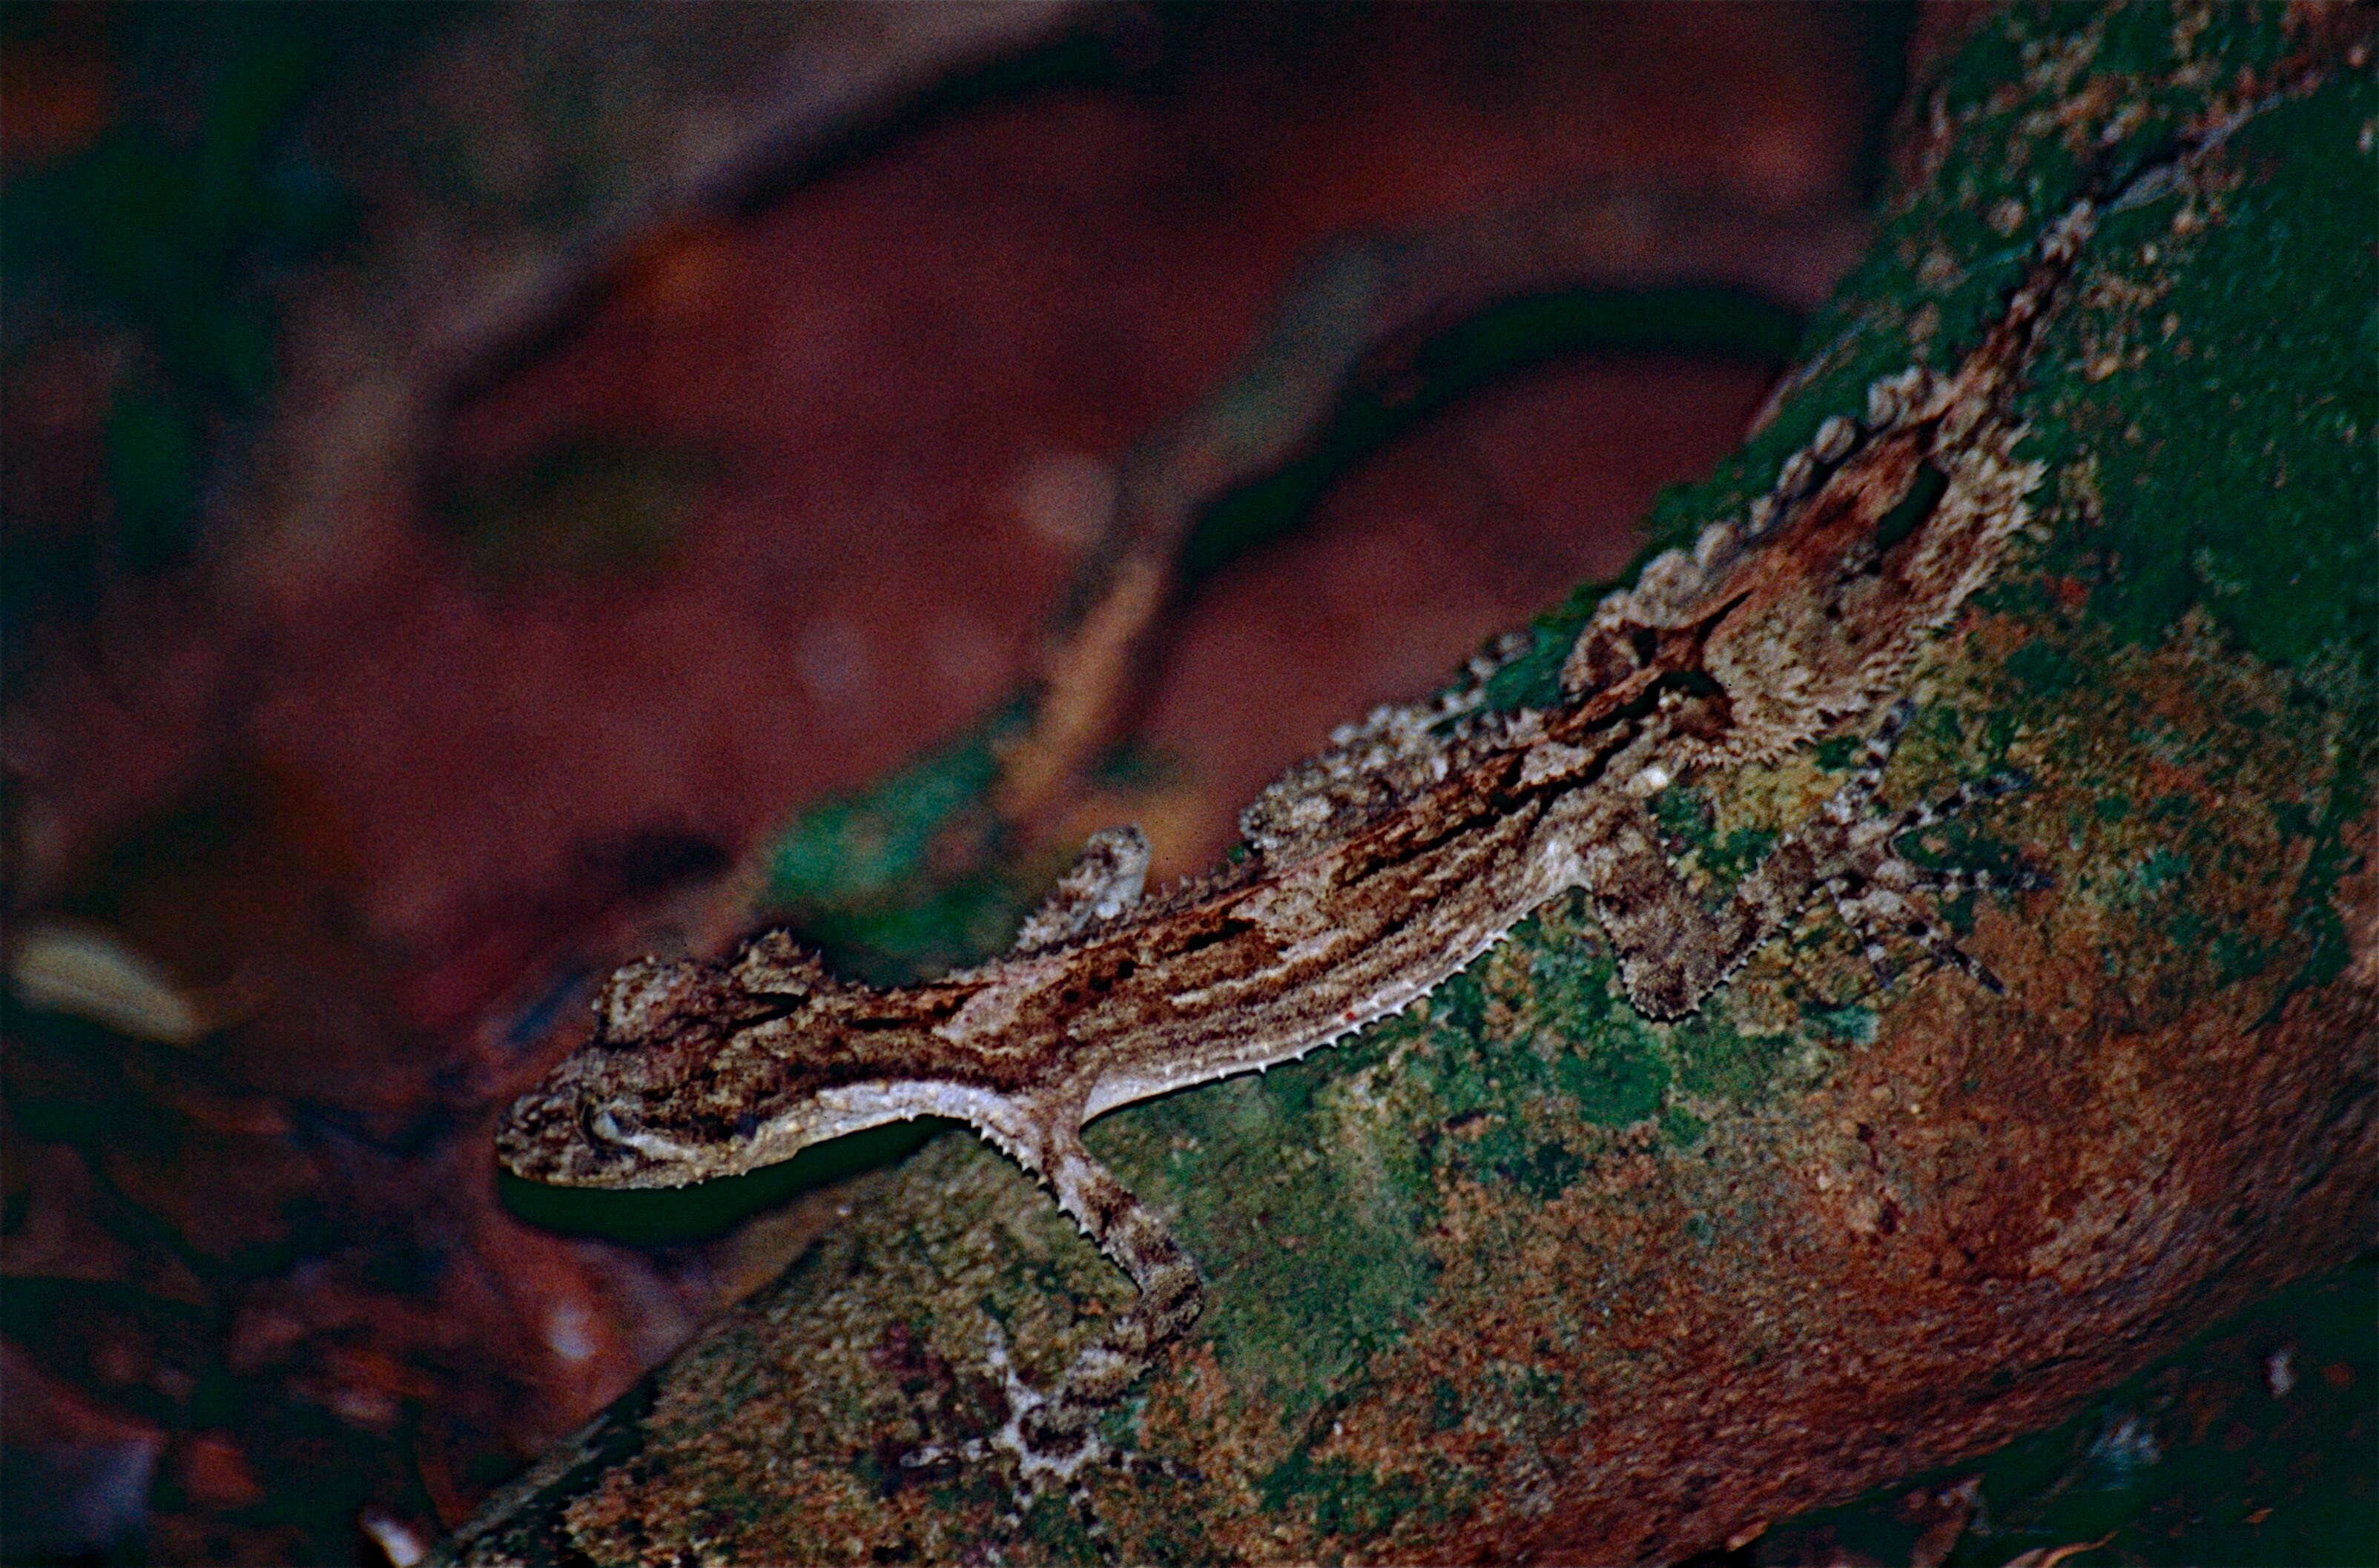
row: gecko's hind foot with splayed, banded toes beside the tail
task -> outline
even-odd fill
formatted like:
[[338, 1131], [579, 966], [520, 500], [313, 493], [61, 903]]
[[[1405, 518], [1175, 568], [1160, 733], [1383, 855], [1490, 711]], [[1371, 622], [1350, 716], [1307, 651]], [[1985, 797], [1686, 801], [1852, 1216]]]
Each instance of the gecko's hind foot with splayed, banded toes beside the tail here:
[[1991, 995], [2003, 995], [2008, 987], [2001, 978], [1982, 959], [1958, 947], [1958, 940], [1939, 918], [1908, 895], [2034, 892], [2053, 888], [2055, 878], [2032, 866], [2017, 866], [2015, 871], [1920, 866], [1901, 854], [1898, 842], [1975, 804], [2027, 790], [2032, 788], [2032, 778], [2008, 769], [1958, 785], [1932, 804], [1879, 811], [1875, 807], [1875, 785], [1882, 780], [1891, 747], [1898, 742], [1901, 728], [1913, 711], [1915, 704], [1906, 697], [1891, 704], [1891, 711], [1884, 714], [1884, 721], [1868, 740], [1868, 754], [1858, 771], [1827, 802], [1827, 816], [1846, 830], [1846, 864], [1825, 878], [1825, 890], [1834, 902], [1834, 911], [1841, 914], [1844, 926], [1858, 935], [1860, 952], [1879, 985], [1891, 985], [1898, 973], [1891, 961], [1891, 940], [1906, 940], [1922, 947], [1937, 961], [1960, 968]]

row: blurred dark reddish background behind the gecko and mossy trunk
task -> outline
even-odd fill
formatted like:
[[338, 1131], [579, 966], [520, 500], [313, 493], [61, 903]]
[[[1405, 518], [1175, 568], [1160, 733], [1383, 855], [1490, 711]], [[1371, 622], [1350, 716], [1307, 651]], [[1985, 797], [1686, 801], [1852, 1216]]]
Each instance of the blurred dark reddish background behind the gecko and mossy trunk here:
[[[414, 1561], [899, 1154], [500, 1187], [600, 973], [1211, 864], [1737, 445], [1965, 19], [0, 10], [7, 1558]], [[2369, 1294], [1737, 1558], [2367, 1516]]]

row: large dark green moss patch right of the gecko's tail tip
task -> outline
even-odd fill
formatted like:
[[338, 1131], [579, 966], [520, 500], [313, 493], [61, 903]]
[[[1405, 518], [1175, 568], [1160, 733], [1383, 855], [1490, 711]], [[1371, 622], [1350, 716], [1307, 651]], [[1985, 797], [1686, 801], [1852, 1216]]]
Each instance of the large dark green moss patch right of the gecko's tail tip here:
[[[2379, 109], [2358, 71], [2232, 140], [2210, 195], [2115, 214], [2077, 352], [2041, 366], [2058, 409], [2041, 457], [2101, 462], [2096, 516], [2067, 516], [2044, 566], [2086, 583], [2091, 616], [2153, 642], [2201, 609], [2279, 666], [2379, 640], [2379, 178], [2355, 148]], [[2174, 233], [2182, 212], [2220, 221]], [[2120, 286], [2120, 293], [2117, 288]], [[2151, 350], [2155, 395], [2105, 364]]]

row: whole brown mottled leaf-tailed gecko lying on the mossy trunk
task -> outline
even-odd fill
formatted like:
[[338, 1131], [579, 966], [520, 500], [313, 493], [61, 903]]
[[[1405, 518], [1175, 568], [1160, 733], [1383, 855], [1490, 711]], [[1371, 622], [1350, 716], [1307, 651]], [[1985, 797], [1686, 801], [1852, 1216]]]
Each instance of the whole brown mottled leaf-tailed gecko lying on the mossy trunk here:
[[[2243, 114], [2234, 117], [2243, 119]], [[1235, 864], [1144, 890], [1135, 828], [1090, 840], [999, 959], [906, 987], [837, 978], [783, 930], [726, 961], [642, 959], [595, 999], [592, 1037], [497, 1130], [519, 1175], [673, 1187], [916, 1116], [971, 1125], [1137, 1287], [1049, 1387], [1006, 1359], [999, 1432], [925, 1459], [1002, 1456], [1018, 1509], [1090, 1466], [1132, 1463], [1094, 1420], [1199, 1316], [1204, 1282], [1163, 1218], [1082, 1144], [1142, 1099], [1263, 1071], [1401, 1011], [1542, 904], [1582, 892], [1646, 1018], [1682, 1018], [1820, 895], [1882, 983], [1908, 940], [2001, 990], [1925, 902], [2041, 888], [1927, 871], [1906, 835], [2025, 780], [2001, 773], [1887, 811], [1877, 783], [1913, 711], [1927, 638], [1991, 576], [2044, 466], [2017, 457], [2015, 390], [2103, 212], [2170, 188], [2227, 124], [2044, 224], [2017, 286], [1946, 371], [1868, 385], [1739, 516], [1653, 557], [1589, 614], [1561, 700], [1501, 711], [1511, 635], [1435, 700], [1332, 735], [1239, 819]], [[2158, 183], [2163, 181], [2163, 183]], [[1696, 773], [1777, 761], [1865, 721], [1865, 754], [1713, 909], [1649, 802]], [[1013, 1516], [1011, 1516], [1013, 1518]]]

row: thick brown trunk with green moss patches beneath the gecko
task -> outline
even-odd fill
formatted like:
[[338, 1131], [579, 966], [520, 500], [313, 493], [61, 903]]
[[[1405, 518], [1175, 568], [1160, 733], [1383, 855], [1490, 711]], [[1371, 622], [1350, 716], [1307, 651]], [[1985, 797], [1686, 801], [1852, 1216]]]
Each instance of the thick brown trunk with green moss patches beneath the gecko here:
[[[2022, 766], [1934, 840], [2055, 876], [1951, 907], [2005, 978], [1879, 987], [1808, 914], [1696, 1016], [1620, 997], [1575, 902], [1304, 1064], [1090, 1142], [1209, 1309], [1111, 1437], [1128, 1561], [1672, 1558], [2063, 1418], [2374, 1235], [2379, 93], [2348, 12], [2010, 12], [1910, 107], [1906, 190], [1775, 419], [1951, 364], [2094, 157], [2303, 69], [2110, 214], [2025, 393], [2036, 523], [1915, 676], [1894, 802]], [[2108, 152], [2113, 150], [2113, 152]], [[1592, 592], [1539, 626], [1558, 664]], [[1511, 700], [1527, 700], [1527, 671]], [[1661, 802], [1713, 899], [1848, 745]], [[849, 1187], [780, 1285], [502, 1494], [462, 1561], [1073, 1561], [1056, 1501], [904, 1470], [997, 1425], [997, 1321], [1061, 1368], [1123, 1280], [963, 1135]]]

